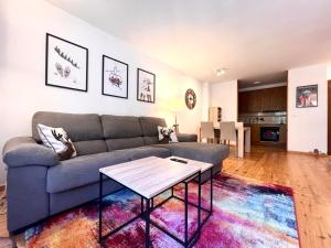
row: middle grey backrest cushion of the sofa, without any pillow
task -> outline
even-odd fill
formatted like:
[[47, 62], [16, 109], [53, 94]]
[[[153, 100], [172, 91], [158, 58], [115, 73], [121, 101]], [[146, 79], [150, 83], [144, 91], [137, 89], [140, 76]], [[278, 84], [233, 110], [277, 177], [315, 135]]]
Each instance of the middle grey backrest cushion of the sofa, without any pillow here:
[[138, 117], [104, 115], [102, 123], [109, 151], [145, 144]]

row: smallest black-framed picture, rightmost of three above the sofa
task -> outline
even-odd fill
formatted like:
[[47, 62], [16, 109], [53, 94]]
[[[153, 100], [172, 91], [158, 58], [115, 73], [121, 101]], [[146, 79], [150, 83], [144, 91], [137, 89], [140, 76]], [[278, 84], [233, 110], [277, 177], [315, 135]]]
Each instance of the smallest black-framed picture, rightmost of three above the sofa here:
[[137, 100], [156, 103], [156, 75], [145, 69], [137, 69]]

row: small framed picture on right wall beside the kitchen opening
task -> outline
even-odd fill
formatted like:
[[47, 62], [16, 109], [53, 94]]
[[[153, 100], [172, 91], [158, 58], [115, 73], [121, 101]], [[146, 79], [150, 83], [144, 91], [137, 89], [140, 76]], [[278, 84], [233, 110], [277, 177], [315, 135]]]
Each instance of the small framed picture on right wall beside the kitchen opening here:
[[297, 87], [297, 108], [318, 107], [318, 85]]

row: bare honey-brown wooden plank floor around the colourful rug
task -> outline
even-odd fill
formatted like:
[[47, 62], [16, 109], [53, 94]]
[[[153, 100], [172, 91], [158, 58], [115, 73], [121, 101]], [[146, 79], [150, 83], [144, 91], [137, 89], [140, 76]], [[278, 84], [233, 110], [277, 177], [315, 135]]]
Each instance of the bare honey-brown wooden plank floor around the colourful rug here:
[[[301, 248], [331, 248], [331, 160], [281, 149], [253, 147], [245, 159], [231, 157], [223, 171], [287, 185], [295, 191]], [[0, 216], [0, 237], [8, 236]], [[23, 247], [22, 235], [17, 237]]]

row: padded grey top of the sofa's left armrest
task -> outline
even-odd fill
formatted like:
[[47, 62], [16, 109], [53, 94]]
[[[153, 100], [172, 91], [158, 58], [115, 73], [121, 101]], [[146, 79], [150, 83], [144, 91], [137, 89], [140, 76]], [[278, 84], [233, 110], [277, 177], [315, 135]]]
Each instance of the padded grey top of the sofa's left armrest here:
[[2, 159], [9, 168], [32, 164], [53, 166], [58, 163], [57, 154], [52, 149], [36, 143], [32, 137], [18, 137], [7, 141]]

